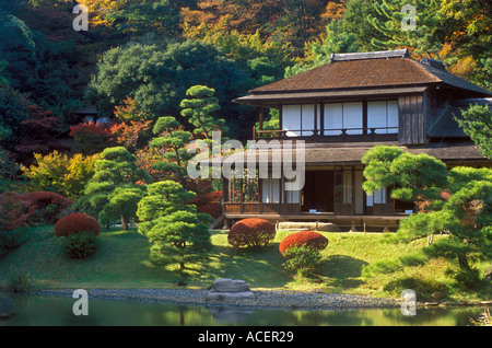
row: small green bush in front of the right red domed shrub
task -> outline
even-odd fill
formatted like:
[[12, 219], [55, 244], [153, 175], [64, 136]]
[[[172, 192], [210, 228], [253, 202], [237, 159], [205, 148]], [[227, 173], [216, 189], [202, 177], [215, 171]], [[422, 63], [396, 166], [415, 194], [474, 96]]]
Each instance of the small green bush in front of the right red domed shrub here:
[[303, 277], [313, 275], [321, 260], [320, 252], [306, 245], [290, 247], [283, 256], [286, 258], [283, 267], [295, 270], [297, 275]]

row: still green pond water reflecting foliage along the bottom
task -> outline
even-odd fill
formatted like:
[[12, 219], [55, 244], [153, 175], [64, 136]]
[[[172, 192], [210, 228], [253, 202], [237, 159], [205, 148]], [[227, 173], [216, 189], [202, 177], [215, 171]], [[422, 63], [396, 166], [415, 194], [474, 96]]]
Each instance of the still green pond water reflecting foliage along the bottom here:
[[471, 326], [483, 309], [279, 311], [89, 299], [89, 315], [75, 316], [75, 299], [11, 295], [15, 316], [0, 326]]

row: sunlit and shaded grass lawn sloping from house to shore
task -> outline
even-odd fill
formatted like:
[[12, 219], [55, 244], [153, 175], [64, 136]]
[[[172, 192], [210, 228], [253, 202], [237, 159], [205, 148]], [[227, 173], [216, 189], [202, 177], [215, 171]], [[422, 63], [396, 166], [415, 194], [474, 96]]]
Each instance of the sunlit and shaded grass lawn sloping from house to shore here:
[[[31, 236], [16, 251], [0, 259], [0, 281], [5, 286], [19, 269], [28, 271], [38, 288], [177, 288], [181, 280], [177, 266], [157, 267], [149, 262], [149, 242], [136, 230], [103, 231], [97, 237], [97, 252], [85, 259], [66, 257], [54, 236], [52, 227], [31, 230]], [[390, 264], [398, 257], [414, 254], [425, 244], [380, 243], [382, 233], [323, 233], [329, 240], [323, 260], [313, 278], [298, 278], [282, 267], [279, 243], [292, 232], [279, 231], [273, 243], [259, 252], [234, 251], [227, 233], [212, 233], [213, 248], [202, 265], [189, 265], [187, 288], [207, 288], [215, 278], [243, 279], [256, 290], [321, 290], [399, 297], [403, 289], [414, 289], [424, 298], [445, 292], [449, 299], [490, 299], [490, 282], [478, 291], [449, 290], [452, 280], [444, 275], [447, 260], [431, 259], [417, 266], [405, 266], [363, 277], [363, 267], [376, 262]], [[483, 266], [483, 265], [482, 265]], [[484, 267], [484, 266], [483, 266]]]

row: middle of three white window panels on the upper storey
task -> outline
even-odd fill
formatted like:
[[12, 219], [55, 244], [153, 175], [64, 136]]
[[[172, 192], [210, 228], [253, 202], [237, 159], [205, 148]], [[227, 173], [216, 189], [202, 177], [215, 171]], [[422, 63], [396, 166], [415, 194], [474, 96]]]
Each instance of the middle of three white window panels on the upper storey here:
[[325, 136], [362, 135], [362, 102], [325, 104]]

